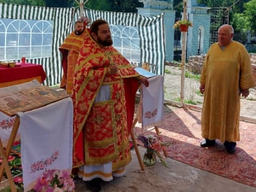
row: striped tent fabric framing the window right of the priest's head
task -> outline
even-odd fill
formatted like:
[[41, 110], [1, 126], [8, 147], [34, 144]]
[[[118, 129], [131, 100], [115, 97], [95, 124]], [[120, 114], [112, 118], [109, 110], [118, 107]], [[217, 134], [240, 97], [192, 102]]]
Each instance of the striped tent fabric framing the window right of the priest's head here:
[[140, 63], [156, 65], [155, 73], [163, 75], [165, 69], [165, 44], [163, 37], [163, 13], [147, 17], [137, 13], [85, 10], [85, 15], [95, 21], [103, 19], [108, 24], [138, 27], [140, 36]]

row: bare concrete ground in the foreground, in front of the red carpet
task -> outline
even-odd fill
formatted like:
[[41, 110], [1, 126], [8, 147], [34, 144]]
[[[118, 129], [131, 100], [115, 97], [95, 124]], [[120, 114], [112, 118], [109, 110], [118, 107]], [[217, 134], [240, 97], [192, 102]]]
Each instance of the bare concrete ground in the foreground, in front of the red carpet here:
[[[143, 155], [145, 149], [139, 148]], [[126, 176], [102, 183], [102, 192], [255, 192], [256, 188], [194, 168], [171, 158], [166, 159], [169, 168], [161, 163], [146, 166], [141, 171], [135, 151], [127, 166]], [[85, 183], [76, 183], [76, 192], [87, 192]]]

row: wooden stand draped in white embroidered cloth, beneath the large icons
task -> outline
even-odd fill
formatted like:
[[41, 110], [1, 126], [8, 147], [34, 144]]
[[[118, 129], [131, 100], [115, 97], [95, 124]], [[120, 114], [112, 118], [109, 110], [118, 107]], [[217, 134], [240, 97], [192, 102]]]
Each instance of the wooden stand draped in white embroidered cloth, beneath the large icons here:
[[[18, 86], [0, 88], [0, 93], [9, 93], [9, 90], [19, 92], [29, 87], [43, 86], [37, 80], [33, 80]], [[21, 138], [24, 192], [33, 188], [35, 180], [41, 177], [46, 169], [72, 169], [73, 101], [71, 98], [63, 98], [43, 107], [40, 107], [40, 104], [35, 105], [34, 109], [21, 110], [16, 116], [7, 116], [0, 112], [0, 158], [2, 158], [0, 182], [5, 172], [12, 192], [17, 190], [8, 157], [18, 132]]]

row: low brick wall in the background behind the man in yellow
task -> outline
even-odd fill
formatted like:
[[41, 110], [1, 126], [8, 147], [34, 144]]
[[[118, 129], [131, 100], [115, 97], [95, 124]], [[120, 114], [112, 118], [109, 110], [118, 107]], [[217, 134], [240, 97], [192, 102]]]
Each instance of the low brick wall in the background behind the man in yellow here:
[[[195, 74], [200, 74], [205, 56], [206, 54], [189, 57], [188, 64], [186, 66], [188, 71]], [[250, 58], [252, 63], [252, 74], [254, 76], [254, 81], [256, 82], [256, 54], [250, 54]]]

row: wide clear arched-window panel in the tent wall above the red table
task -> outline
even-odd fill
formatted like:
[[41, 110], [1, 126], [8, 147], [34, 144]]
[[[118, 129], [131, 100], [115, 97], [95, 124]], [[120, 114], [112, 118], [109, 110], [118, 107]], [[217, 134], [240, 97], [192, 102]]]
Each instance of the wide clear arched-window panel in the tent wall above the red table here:
[[0, 60], [51, 57], [52, 31], [52, 21], [1, 18]]

